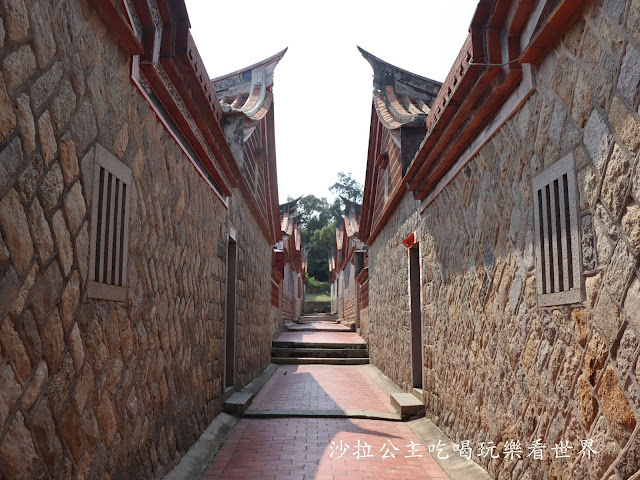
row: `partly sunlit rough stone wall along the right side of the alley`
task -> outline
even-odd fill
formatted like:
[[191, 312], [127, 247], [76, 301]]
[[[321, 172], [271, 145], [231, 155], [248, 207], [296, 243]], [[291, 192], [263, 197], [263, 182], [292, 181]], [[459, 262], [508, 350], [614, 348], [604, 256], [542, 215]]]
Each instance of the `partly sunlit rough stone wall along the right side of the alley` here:
[[[640, 4], [587, 7], [523, 107], [424, 214], [407, 195], [370, 250], [372, 362], [409, 385], [400, 240], [416, 230], [428, 415], [472, 446], [547, 445], [543, 461], [474, 450], [498, 478], [628, 479], [640, 465]], [[531, 179], [567, 154], [583, 301], [539, 308]], [[580, 460], [589, 438], [598, 454]], [[570, 459], [553, 458], [560, 441]]]

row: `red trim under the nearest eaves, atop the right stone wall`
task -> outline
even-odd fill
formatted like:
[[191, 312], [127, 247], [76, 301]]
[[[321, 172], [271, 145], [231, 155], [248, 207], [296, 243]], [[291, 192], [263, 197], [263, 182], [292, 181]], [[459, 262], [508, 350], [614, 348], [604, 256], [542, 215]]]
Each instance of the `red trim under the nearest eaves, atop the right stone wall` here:
[[[429, 133], [407, 172], [408, 188], [417, 200], [424, 200], [439, 184], [509, 97], [522, 79], [522, 65], [537, 60], [570, 27], [583, 4], [580, 0], [561, 1], [529, 41], [539, 15], [532, 14], [533, 0], [480, 2], [470, 36], [438, 94], [436, 101], [443, 103], [434, 105], [438, 110], [432, 110], [435, 115], [427, 118]], [[522, 55], [520, 35], [524, 35]], [[477, 60], [483, 57], [487, 60]]]

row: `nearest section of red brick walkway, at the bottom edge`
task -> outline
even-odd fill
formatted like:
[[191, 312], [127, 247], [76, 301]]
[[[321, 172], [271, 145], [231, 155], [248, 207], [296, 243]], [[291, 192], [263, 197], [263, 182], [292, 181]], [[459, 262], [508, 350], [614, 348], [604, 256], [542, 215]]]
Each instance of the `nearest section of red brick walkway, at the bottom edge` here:
[[411, 457], [411, 442], [418, 444], [419, 440], [401, 422], [245, 418], [236, 424], [202, 478], [449, 478], [424, 446], [415, 447], [416, 456]]

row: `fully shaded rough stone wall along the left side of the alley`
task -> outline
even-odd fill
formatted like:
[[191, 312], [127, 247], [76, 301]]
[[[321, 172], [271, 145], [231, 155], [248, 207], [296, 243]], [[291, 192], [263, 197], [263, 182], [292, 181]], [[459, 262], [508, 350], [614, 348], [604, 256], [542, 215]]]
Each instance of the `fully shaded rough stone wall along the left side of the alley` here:
[[[0, 477], [161, 478], [220, 411], [226, 207], [86, 2], [3, 2], [0, 57]], [[123, 302], [87, 296], [97, 153], [133, 176]], [[232, 209], [244, 384], [271, 251]]]

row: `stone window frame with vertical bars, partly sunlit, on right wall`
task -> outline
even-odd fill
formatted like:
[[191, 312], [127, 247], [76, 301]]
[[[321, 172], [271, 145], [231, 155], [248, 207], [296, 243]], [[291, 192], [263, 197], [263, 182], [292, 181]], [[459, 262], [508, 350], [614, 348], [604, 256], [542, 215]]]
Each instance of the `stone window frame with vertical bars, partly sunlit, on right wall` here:
[[539, 307], [582, 301], [582, 261], [573, 152], [532, 179]]

